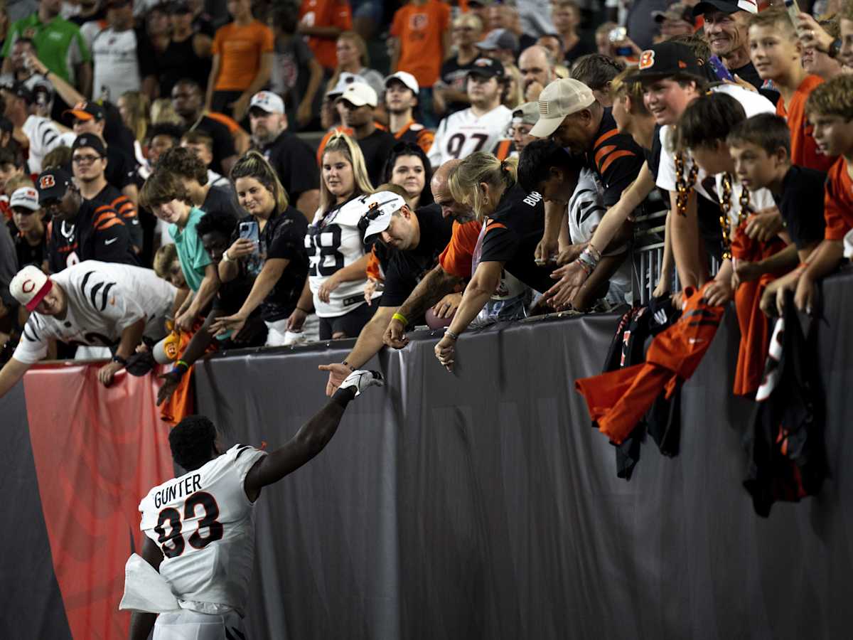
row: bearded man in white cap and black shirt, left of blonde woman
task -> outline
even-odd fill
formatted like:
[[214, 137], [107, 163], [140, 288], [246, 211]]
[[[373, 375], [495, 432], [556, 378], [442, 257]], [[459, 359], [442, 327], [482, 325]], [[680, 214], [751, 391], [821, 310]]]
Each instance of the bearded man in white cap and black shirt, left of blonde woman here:
[[272, 91], [258, 91], [249, 102], [252, 148], [264, 154], [287, 196], [308, 218], [320, 203], [320, 174], [314, 153], [302, 138], [287, 131], [284, 101]]

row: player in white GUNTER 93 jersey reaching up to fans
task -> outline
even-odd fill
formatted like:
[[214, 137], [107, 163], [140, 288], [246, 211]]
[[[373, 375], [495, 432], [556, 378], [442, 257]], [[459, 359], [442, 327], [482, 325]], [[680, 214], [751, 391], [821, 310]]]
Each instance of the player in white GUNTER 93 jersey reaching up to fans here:
[[147, 538], [142, 557], [127, 561], [119, 605], [134, 612], [131, 640], [144, 640], [152, 627], [154, 640], [245, 637], [252, 512], [261, 489], [320, 453], [350, 400], [382, 384], [375, 371], [353, 371], [293, 439], [269, 454], [249, 445], [224, 451], [205, 416], [188, 416], [171, 430], [171, 455], [187, 473], [139, 503]]

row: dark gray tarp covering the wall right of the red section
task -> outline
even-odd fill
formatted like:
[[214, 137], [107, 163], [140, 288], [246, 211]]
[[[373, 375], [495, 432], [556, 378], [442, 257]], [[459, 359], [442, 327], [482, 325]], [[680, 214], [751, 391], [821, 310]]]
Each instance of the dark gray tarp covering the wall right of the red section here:
[[[751, 402], [731, 393], [733, 311], [683, 388], [682, 450], [651, 440], [630, 482], [590, 428], [577, 377], [615, 317], [464, 335], [454, 374], [415, 335], [369, 364], [322, 454], [258, 503], [252, 638], [838, 638], [853, 608], [853, 275], [820, 326], [833, 478], [754, 514], [741, 486]], [[237, 353], [199, 367], [229, 439], [283, 444], [348, 348]]]

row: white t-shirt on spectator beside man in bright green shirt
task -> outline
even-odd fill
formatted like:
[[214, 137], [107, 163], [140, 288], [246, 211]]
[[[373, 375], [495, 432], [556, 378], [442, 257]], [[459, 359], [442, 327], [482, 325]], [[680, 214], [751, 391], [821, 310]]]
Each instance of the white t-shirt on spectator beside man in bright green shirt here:
[[81, 26], [80, 32], [92, 52], [94, 96], [116, 102], [125, 91], [140, 90], [142, 79], [133, 29], [117, 32], [93, 20]]

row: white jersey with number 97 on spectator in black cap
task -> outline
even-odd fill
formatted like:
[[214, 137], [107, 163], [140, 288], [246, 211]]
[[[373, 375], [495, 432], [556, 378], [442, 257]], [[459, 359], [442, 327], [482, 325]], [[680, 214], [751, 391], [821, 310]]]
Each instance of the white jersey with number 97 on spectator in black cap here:
[[477, 117], [471, 108], [451, 113], [438, 124], [435, 140], [427, 157], [438, 167], [455, 158], [465, 158], [474, 151], [491, 151], [508, 136], [513, 112], [498, 105]]

